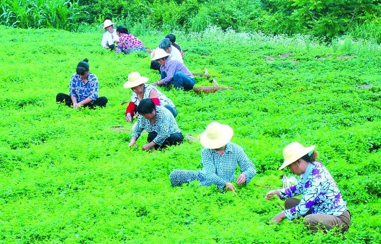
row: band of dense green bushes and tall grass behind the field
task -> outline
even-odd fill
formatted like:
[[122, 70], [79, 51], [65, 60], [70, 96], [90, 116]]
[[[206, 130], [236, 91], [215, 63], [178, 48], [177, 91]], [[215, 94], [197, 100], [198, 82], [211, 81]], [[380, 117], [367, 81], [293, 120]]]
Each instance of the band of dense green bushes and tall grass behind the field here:
[[129, 29], [338, 35], [381, 42], [381, 0], [1, 0], [0, 24], [82, 30], [105, 18]]

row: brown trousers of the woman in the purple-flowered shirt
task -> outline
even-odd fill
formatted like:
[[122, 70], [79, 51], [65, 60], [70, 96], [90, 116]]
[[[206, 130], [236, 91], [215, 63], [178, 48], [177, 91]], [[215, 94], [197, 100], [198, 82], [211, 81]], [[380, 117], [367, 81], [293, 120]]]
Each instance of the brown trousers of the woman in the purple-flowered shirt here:
[[[291, 209], [299, 203], [299, 199], [290, 197], [284, 202], [284, 207], [286, 209]], [[342, 233], [344, 233], [350, 226], [350, 213], [348, 210], [346, 210], [340, 216], [333, 216], [330, 214], [321, 213], [312, 214], [312, 209], [310, 209], [305, 215], [303, 215], [303, 217], [303, 224], [312, 232], [337, 228]]]

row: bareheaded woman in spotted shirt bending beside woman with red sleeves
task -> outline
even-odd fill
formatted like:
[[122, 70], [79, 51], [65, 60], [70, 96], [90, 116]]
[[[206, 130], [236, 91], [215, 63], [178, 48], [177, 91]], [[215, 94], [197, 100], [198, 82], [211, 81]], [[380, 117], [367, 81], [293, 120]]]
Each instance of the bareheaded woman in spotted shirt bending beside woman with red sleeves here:
[[151, 99], [142, 99], [138, 105], [138, 121], [136, 122], [131, 141], [128, 147], [136, 145], [136, 140], [141, 132], [148, 132], [148, 143], [144, 144], [143, 150], [165, 148], [183, 142], [181, 134], [173, 114], [165, 107], [156, 106]]

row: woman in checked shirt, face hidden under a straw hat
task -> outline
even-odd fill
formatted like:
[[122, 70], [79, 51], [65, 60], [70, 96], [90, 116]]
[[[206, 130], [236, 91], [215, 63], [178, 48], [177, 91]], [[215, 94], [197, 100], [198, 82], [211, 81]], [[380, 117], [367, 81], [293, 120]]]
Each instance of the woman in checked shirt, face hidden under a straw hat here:
[[200, 186], [217, 185], [218, 189], [224, 187], [228, 191], [235, 191], [231, 183], [235, 179], [234, 172], [237, 164], [241, 174], [237, 184], [247, 184], [256, 174], [256, 168], [242, 148], [230, 139], [233, 129], [219, 122], [208, 124], [205, 132], [201, 134], [200, 142], [205, 148], [201, 152], [203, 169], [198, 171], [173, 170], [170, 174], [172, 186], [199, 180]]

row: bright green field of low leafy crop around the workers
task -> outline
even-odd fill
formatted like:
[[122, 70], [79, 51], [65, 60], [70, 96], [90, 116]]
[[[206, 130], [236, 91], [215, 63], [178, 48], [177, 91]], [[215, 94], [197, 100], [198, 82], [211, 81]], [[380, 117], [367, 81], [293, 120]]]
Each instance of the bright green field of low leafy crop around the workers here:
[[[292, 141], [316, 144], [338, 183], [352, 214], [346, 243], [381, 243], [381, 47], [213, 27], [176, 34], [191, 71], [207, 68], [233, 87], [165, 91], [182, 133], [197, 138], [209, 122], [229, 124], [257, 167], [253, 181], [237, 194], [198, 182], [173, 188], [173, 169], [202, 167], [199, 142], [148, 153], [110, 129], [132, 126], [121, 105], [131, 95], [122, 87], [128, 73], [158, 80], [149, 54], [102, 50], [101, 31], [0, 26], [0, 243], [344, 242], [333, 232], [310, 235], [298, 221], [267, 225], [281, 201], [264, 196], [281, 187], [277, 168]], [[151, 48], [162, 37], [139, 36]], [[84, 58], [109, 100], [103, 109], [55, 103]]]

